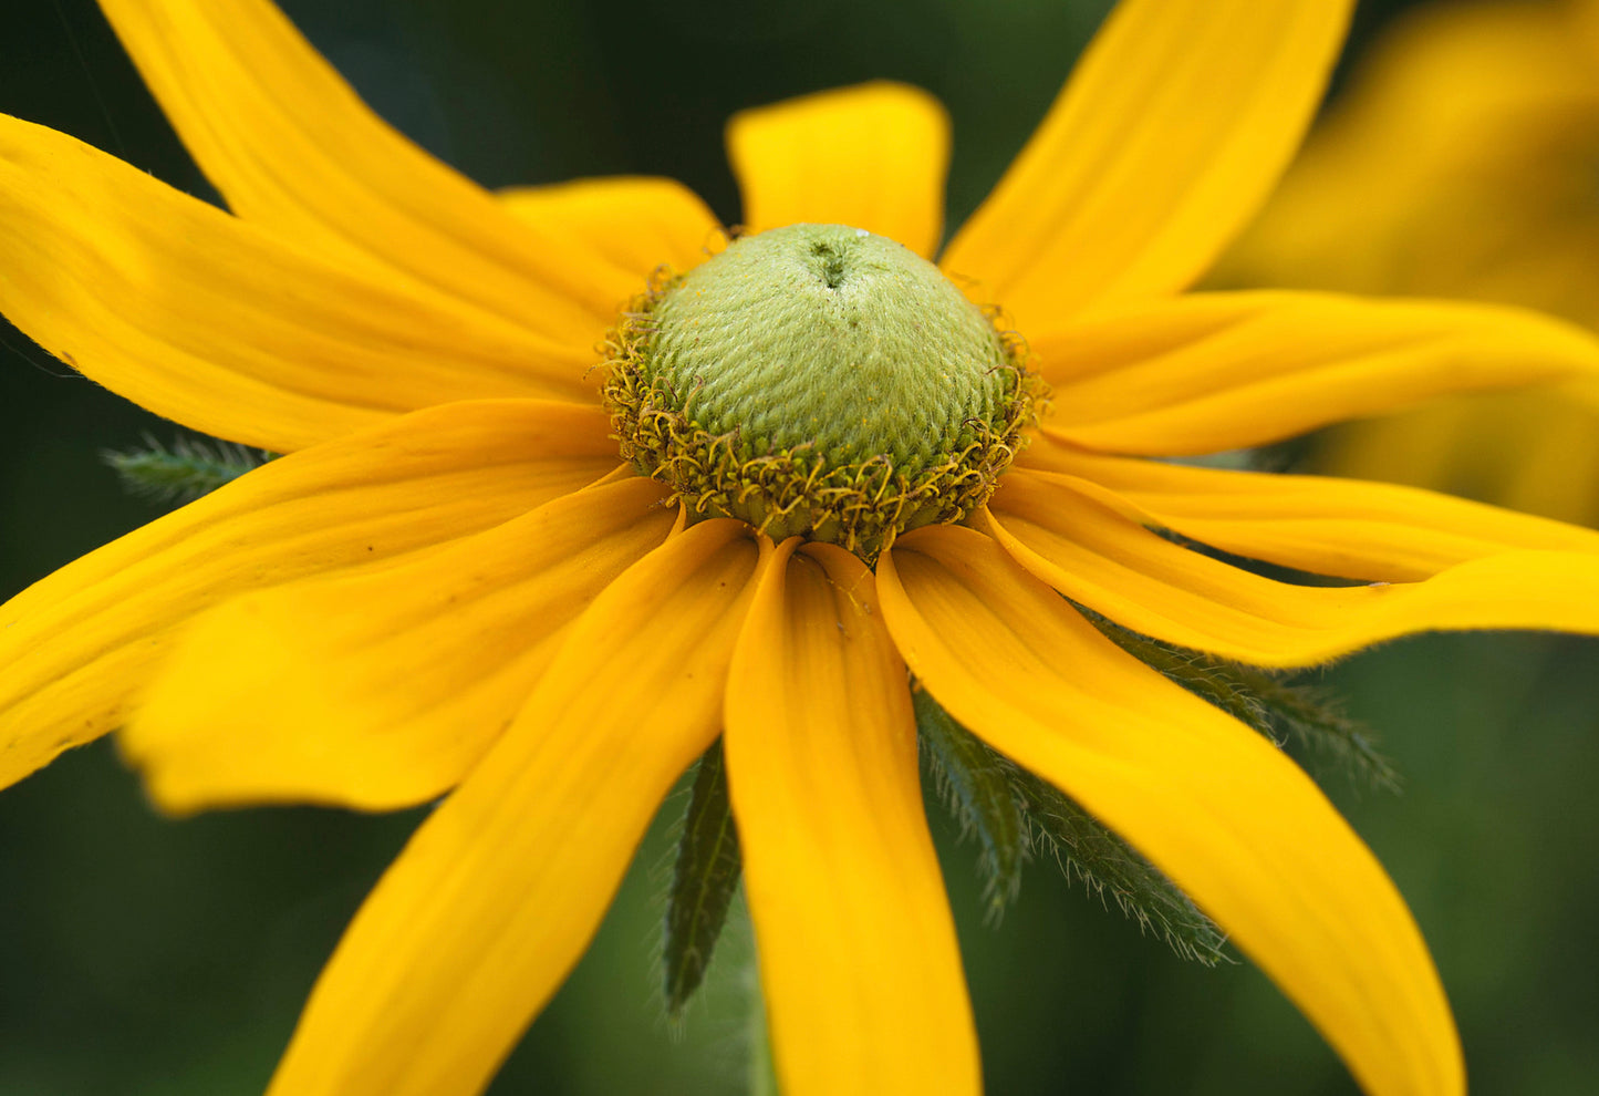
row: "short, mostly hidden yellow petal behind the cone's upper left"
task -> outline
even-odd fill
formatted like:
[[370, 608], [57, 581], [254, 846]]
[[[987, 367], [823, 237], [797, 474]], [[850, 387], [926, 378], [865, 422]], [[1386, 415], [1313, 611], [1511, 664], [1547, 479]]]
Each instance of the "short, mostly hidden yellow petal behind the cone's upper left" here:
[[617, 282], [619, 302], [643, 291], [660, 267], [686, 274], [726, 246], [716, 214], [676, 179], [579, 179], [512, 187], [500, 190], [499, 198], [529, 224], [566, 232], [625, 270], [625, 283]]

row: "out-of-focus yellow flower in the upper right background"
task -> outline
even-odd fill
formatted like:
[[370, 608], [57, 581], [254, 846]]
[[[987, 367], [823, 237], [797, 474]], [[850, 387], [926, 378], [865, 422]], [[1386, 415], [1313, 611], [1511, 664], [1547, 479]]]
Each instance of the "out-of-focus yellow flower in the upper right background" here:
[[[1431, 5], [1390, 30], [1225, 278], [1503, 301], [1599, 326], [1599, 2]], [[1332, 432], [1318, 469], [1599, 523], [1599, 382]]]

